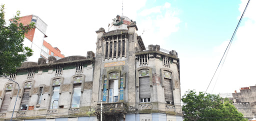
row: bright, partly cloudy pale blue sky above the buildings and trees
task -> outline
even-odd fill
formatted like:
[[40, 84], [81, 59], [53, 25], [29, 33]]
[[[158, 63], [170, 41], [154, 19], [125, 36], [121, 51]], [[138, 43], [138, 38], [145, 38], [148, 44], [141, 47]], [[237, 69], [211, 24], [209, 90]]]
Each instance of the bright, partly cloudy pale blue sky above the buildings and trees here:
[[[96, 33], [107, 31], [117, 14], [136, 21], [145, 46], [176, 50], [181, 95], [205, 91], [235, 30], [247, 0], [1, 0], [5, 19], [34, 14], [46, 24], [45, 40], [65, 56], [86, 56], [96, 48]], [[239, 92], [255, 85], [256, 0], [250, 0], [223, 66], [208, 93]], [[222, 65], [222, 63], [220, 64]]]

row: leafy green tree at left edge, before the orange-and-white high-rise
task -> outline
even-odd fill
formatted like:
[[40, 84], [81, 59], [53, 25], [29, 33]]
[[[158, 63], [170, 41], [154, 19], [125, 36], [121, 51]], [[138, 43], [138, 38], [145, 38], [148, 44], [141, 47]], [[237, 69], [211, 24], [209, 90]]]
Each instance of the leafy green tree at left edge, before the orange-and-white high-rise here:
[[25, 33], [34, 23], [23, 25], [19, 23], [20, 11], [9, 20], [6, 26], [4, 20], [4, 4], [0, 6], [0, 75], [3, 73], [14, 73], [16, 67], [26, 60], [27, 56], [32, 55], [32, 49], [23, 46]]

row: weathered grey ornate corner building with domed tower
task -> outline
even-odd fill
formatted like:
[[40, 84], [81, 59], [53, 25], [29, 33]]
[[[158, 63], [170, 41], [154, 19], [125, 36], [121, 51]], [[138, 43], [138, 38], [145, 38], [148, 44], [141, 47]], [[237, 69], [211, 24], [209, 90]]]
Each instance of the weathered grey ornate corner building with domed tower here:
[[96, 51], [24, 62], [0, 78], [0, 120], [182, 120], [175, 50], [144, 46], [136, 22], [117, 15], [96, 30]]

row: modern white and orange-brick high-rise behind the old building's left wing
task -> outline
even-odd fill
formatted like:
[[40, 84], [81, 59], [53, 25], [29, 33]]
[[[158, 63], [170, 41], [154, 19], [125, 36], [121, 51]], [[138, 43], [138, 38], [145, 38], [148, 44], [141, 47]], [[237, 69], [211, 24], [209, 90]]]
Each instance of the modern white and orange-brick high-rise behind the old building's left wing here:
[[64, 57], [57, 47], [52, 47], [44, 40], [44, 37], [47, 37], [45, 34], [47, 24], [42, 19], [31, 14], [20, 17], [19, 22], [23, 23], [23, 25], [27, 25], [30, 22], [35, 23], [35, 27], [25, 34], [25, 39], [23, 41], [24, 46], [33, 50], [33, 55], [27, 57], [27, 61], [36, 62], [39, 57], [43, 57], [46, 60], [49, 56], [55, 56], [57, 59]]

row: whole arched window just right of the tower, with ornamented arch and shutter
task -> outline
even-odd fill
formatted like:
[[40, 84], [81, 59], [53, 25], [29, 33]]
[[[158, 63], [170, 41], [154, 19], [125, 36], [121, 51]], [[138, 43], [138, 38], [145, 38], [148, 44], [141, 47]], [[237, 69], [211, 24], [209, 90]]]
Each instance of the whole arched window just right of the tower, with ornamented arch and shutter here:
[[139, 71], [139, 102], [150, 102], [150, 81], [149, 81], [149, 70]]

